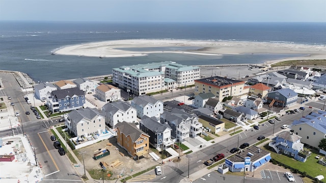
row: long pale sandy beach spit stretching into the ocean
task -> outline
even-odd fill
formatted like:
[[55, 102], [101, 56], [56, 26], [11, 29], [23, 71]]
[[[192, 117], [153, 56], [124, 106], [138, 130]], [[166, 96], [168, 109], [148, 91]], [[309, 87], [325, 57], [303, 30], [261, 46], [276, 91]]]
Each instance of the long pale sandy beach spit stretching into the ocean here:
[[[159, 48], [161, 51], [126, 51], [123, 48]], [[173, 47], [175, 51], [164, 51], [164, 47]], [[178, 50], [180, 47], [196, 47], [195, 50]], [[159, 50], [159, 49], [155, 49]], [[289, 59], [325, 59], [326, 47], [320, 45], [304, 45], [289, 43], [240, 42], [240, 41], [196, 41], [196, 40], [115, 40], [72, 45], [60, 48], [56, 54], [78, 55], [92, 57], [129, 57], [146, 56], [149, 53], [183, 53], [198, 55], [223, 55], [241, 53], [294, 53], [305, 54], [303, 57], [291, 57], [271, 62]], [[309, 57], [309, 58], [308, 58]]]

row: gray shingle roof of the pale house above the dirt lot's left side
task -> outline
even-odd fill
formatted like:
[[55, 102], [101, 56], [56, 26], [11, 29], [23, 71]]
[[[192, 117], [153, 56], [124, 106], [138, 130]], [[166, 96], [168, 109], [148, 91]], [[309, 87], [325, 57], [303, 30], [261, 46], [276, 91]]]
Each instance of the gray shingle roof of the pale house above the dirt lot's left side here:
[[[68, 116], [70, 119], [72, 119], [73, 121], [75, 121], [76, 123], [78, 123], [80, 120], [82, 120], [83, 118], [86, 119], [93, 119], [96, 115], [100, 115], [102, 116], [96, 108], [80, 108], [78, 110], [73, 110], [71, 111]], [[102, 116], [103, 117], [103, 116]]]

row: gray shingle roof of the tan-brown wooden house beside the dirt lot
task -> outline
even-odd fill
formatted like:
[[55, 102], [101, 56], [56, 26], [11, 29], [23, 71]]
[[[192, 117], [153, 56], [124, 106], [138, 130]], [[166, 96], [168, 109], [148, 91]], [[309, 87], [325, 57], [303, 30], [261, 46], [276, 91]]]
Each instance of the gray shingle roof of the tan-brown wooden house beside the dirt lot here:
[[[139, 137], [145, 134], [143, 131], [141, 131], [134, 123], [127, 123], [126, 121], [118, 122], [116, 125], [116, 128], [119, 128], [120, 132], [124, 135], [129, 135], [132, 142], [135, 142]], [[149, 137], [149, 135], [147, 135]]]

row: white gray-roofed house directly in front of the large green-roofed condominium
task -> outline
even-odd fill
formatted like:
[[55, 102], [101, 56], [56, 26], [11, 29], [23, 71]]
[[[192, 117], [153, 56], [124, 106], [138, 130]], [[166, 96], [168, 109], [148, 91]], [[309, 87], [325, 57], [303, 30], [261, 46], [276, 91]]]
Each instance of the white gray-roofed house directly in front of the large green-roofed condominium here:
[[142, 118], [144, 115], [148, 117], [158, 116], [162, 114], [163, 102], [150, 96], [135, 97], [131, 101], [131, 106], [137, 110], [137, 117]]

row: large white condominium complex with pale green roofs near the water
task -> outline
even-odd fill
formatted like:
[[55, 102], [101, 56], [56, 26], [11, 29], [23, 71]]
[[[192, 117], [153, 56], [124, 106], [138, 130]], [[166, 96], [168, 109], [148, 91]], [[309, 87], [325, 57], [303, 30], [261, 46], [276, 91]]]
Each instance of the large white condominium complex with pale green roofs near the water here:
[[[113, 83], [135, 95], [194, 85], [200, 79], [199, 67], [175, 62], [122, 66], [112, 70]], [[129, 89], [129, 90], [128, 90]]]

